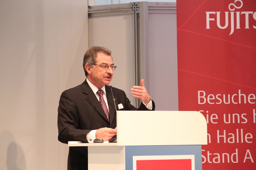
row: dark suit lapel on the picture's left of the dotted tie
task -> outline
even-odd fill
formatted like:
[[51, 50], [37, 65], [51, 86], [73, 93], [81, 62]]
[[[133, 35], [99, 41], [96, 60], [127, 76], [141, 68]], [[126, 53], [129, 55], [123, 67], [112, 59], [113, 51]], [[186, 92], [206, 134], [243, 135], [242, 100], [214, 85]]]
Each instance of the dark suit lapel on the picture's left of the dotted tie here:
[[104, 119], [109, 121], [97, 97], [86, 80], [82, 83], [82, 92], [87, 94], [85, 99], [94, 107], [94, 109], [97, 110]]

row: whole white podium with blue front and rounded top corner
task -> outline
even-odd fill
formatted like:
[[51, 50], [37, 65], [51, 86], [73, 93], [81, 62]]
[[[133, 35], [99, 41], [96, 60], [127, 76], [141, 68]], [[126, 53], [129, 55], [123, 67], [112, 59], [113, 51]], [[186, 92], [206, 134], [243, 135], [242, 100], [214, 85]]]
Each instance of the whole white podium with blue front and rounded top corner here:
[[197, 111], [117, 111], [117, 143], [88, 146], [89, 170], [201, 170], [207, 123]]

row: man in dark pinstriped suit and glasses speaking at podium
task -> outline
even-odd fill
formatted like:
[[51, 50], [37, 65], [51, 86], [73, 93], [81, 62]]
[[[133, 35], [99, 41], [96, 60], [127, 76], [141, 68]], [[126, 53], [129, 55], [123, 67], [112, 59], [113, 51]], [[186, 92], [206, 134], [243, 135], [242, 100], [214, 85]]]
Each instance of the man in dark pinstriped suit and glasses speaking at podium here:
[[[131, 93], [142, 100], [139, 108], [130, 104], [124, 91], [112, 88], [114, 66], [111, 51], [104, 47], [89, 48], [83, 59], [85, 81], [77, 87], [62, 92], [58, 107], [58, 129], [60, 142], [81, 141], [93, 143], [95, 138], [109, 141], [116, 135], [117, 110], [155, 110], [148, 95], [144, 80], [141, 86], [133, 86]], [[88, 148], [69, 147], [68, 170], [88, 169]]]

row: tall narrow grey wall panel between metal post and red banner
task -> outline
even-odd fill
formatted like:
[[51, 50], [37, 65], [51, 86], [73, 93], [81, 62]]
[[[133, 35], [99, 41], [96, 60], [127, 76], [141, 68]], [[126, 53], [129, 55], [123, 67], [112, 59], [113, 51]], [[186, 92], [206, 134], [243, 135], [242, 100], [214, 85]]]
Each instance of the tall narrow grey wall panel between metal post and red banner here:
[[148, 14], [149, 95], [156, 110], [178, 110], [176, 14]]

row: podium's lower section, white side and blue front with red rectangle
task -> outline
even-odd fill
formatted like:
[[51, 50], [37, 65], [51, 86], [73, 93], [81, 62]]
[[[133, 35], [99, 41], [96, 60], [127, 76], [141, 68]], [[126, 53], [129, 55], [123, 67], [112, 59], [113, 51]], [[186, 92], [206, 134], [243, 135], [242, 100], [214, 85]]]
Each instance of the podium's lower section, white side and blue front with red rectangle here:
[[202, 170], [201, 145], [98, 145], [88, 147], [89, 170]]

